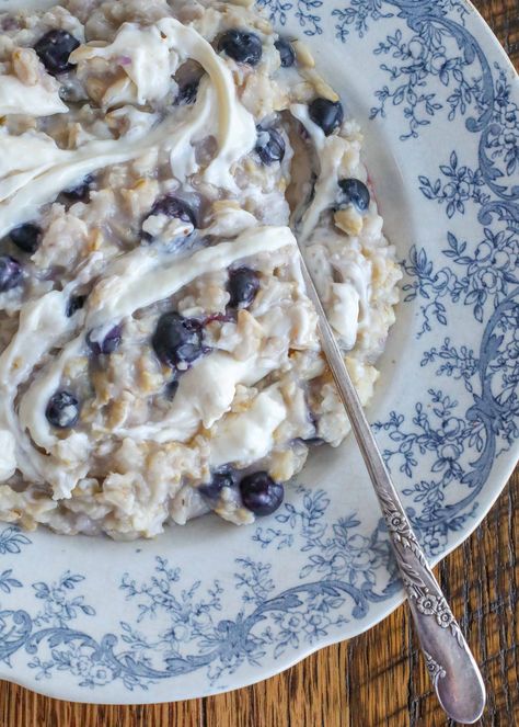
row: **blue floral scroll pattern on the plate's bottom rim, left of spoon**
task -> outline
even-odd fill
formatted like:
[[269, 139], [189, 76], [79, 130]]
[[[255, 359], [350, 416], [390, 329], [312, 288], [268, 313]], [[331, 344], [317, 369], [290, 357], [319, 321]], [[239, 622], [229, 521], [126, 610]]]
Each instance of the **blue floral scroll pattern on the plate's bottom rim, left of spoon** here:
[[[147, 690], [200, 669], [210, 684], [221, 686], [244, 663], [272, 661], [319, 643], [349, 618], [365, 617], [370, 603], [400, 588], [387, 533], [378, 526], [371, 537], [360, 535], [354, 514], [333, 523], [324, 491], [300, 486], [299, 493], [301, 506], [286, 503], [277, 515], [284, 538], [261, 526], [253, 535], [263, 549], [279, 547], [289, 534], [298, 542], [308, 557], [296, 587], [280, 591], [268, 559], [239, 557], [234, 587], [242, 605], [233, 617], [223, 617], [218, 580], [189, 581], [180, 567], [157, 557], [148, 580], [138, 582], [129, 573], [120, 580], [135, 618], [122, 621], [117, 634], [94, 638], [88, 622], [95, 610], [79, 592], [84, 577], [67, 571], [32, 584], [34, 611], [0, 612], [0, 659], [11, 666], [15, 656], [27, 654], [36, 681], [67, 672], [85, 689], [119, 682], [130, 691]], [[379, 570], [390, 578], [377, 589]]]

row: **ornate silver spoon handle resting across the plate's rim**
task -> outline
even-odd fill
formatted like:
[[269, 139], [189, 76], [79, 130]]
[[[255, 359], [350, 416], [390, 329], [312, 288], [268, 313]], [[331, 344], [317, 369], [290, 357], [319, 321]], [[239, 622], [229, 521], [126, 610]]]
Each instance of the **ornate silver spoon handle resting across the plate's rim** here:
[[391, 481], [302, 255], [301, 270], [318, 311], [324, 354], [382, 508], [436, 693], [449, 717], [472, 724], [481, 717], [486, 700], [480, 670]]

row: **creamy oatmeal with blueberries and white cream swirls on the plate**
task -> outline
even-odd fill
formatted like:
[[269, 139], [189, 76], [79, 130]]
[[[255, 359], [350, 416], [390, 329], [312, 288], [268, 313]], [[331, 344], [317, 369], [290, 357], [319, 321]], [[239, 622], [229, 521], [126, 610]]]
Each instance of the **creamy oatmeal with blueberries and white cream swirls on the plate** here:
[[273, 513], [366, 404], [400, 271], [362, 136], [249, 2], [0, 12], [0, 518], [152, 537]]

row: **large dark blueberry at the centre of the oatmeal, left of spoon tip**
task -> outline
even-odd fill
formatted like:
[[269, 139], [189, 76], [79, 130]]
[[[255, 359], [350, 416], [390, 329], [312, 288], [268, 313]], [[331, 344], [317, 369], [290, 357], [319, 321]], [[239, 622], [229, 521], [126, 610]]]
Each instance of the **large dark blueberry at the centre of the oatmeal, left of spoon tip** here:
[[177, 313], [165, 313], [159, 318], [151, 345], [166, 366], [193, 363], [204, 353], [201, 323]]

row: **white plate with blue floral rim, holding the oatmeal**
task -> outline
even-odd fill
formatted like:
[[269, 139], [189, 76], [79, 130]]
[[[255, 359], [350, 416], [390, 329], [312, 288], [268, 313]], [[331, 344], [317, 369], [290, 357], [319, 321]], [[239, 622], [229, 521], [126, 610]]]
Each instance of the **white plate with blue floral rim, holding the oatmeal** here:
[[[498, 496], [519, 451], [519, 83], [459, 0], [258, 0], [305, 36], [366, 132], [403, 303], [370, 408], [432, 561]], [[402, 601], [351, 438], [282, 509], [153, 542], [0, 526], [0, 677], [142, 703], [243, 686], [366, 631]]]

